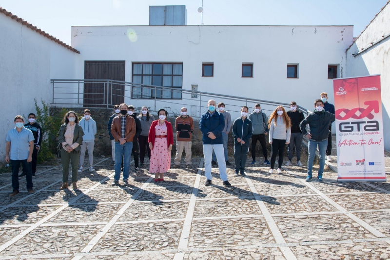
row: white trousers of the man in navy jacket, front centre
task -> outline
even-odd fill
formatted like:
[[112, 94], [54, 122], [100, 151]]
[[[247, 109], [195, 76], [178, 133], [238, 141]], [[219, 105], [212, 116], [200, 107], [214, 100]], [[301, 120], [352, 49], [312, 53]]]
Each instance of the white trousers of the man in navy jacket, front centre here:
[[221, 180], [228, 180], [228, 176], [226, 175], [226, 161], [223, 156], [223, 144], [203, 144], [204, 175], [207, 180], [213, 179], [211, 176], [211, 159], [213, 156], [213, 150], [215, 151], [216, 159], [218, 161]]

